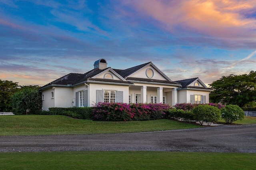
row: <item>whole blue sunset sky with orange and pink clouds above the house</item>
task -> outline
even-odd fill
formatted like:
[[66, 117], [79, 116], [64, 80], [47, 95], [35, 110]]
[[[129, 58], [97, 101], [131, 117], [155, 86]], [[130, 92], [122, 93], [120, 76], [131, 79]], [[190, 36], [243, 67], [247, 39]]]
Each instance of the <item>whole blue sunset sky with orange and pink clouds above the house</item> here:
[[1, 0], [0, 79], [45, 85], [104, 58], [173, 81], [256, 71], [255, 0]]

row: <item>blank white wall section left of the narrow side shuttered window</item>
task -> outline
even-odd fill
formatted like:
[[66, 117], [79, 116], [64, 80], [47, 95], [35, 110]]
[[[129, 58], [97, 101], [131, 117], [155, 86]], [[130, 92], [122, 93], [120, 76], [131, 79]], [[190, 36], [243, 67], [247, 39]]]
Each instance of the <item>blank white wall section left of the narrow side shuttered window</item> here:
[[54, 91], [55, 107], [73, 107], [72, 87], [55, 87]]

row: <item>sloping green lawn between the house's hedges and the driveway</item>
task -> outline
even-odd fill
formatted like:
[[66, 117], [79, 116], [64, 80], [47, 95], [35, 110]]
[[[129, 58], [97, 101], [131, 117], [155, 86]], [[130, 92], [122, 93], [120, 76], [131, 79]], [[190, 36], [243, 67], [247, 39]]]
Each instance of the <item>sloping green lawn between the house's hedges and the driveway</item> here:
[[0, 116], [0, 135], [102, 134], [149, 132], [197, 127], [200, 126], [168, 119], [99, 122], [72, 119], [62, 115]]

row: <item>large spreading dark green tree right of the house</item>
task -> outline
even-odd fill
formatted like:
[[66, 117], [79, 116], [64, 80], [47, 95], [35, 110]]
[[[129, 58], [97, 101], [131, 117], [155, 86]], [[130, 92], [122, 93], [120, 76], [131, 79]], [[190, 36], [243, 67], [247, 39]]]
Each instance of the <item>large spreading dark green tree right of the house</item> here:
[[214, 89], [210, 93], [212, 103], [223, 105], [238, 105], [242, 107], [256, 101], [256, 72], [243, 75], [222, 76], [210, 84]]

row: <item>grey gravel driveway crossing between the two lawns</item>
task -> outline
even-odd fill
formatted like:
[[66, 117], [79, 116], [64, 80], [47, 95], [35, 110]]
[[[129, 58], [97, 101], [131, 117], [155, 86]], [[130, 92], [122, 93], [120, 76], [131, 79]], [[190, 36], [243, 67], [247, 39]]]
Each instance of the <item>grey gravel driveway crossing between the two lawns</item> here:
[[78, 150], [256, 152], [256, 125], [118, 134], [0, 136], [0, 152]]

